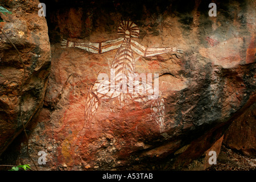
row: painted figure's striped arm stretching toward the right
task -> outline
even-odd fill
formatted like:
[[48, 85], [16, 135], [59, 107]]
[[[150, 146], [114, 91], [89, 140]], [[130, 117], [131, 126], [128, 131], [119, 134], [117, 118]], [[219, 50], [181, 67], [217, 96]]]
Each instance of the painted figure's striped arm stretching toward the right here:
[[174, 48], [147, 48], [139, 44], [135, 40], [131, 40], [131, 48], [140, 56], [148, 57], [148, 56], [155, 56], [160, 55], [162, 53], [167, 52], [179, 52], [183, 53], [183, 50]]

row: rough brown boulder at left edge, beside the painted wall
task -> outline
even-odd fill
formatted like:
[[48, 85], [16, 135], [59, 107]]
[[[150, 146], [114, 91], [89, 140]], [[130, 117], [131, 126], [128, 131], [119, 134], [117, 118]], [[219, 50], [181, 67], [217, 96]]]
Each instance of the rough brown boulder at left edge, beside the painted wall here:
[[[2, 14], [2, 30], [15, 44], [26, 67], [22, 93], [22, 116], [27, 125], [42, 107], [51, 65], [51, 50], [39, 1], [0, 1], [12, 14]], [[14, 47], [0, 32], [0, 155], [23, 130], [19, 115], [19, 91], [23, 65]]]

